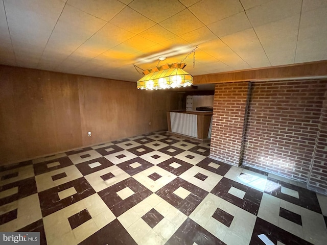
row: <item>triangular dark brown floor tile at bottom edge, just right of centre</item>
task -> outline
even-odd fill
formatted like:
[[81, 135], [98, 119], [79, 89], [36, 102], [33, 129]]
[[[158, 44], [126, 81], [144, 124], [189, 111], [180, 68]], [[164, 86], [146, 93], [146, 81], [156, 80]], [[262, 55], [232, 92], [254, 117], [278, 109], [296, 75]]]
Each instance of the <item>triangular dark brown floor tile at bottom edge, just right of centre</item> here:
[[166, 245], [192, 245], [194, 243], [198, 245], [226, 245], [190, 218], [184, 221], [174, 235], [167, 241]]

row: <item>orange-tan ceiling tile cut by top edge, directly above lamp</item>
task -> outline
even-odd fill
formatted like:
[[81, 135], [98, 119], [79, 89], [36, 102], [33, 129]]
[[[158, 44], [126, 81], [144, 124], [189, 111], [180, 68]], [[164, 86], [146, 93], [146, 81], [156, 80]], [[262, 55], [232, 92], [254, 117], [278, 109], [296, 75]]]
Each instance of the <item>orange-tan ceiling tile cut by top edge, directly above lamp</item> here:
[[138, 0], [132, 2], [129, 7], [156, 23], [170, 18], [171, 16], [185, 9], [185, 6], [183, 6], [177, 0], [156, 2], [149, 2], [149, 0]]

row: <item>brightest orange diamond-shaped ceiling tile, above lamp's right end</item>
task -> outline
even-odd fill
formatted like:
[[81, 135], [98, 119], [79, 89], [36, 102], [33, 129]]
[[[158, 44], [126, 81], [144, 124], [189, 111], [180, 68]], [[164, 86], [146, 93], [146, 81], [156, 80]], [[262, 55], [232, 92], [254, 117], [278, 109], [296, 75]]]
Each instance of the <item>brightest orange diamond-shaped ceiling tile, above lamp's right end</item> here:
[[179, 36], [203, 27], [204, 24], [188, 9], [185, 9], [169, 19], [160, 22], [160, 26]]

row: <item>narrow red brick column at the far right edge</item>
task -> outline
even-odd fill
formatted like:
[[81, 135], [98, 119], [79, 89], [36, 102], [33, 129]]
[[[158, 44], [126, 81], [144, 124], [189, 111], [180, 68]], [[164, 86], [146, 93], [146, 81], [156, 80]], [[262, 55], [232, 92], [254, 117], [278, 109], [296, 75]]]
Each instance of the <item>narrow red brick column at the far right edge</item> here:
[[319, 129], [310, 166], [308, 188], [327, 194], [327, 91], [321, 109]]

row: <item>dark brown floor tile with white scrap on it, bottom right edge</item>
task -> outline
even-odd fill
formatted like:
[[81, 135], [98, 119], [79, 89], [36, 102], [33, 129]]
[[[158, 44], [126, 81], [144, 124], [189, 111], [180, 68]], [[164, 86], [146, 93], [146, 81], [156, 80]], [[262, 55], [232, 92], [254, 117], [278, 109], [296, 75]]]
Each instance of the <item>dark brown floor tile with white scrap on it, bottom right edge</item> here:
[[260, 234], [265, 234], [273, 244], [277, 244], [277, 241], [284, 244], [292, 245], [312, 245], [312, 243], [303, 240], [277, 226], [274, 226], [265, 220], [256, 217], [250, 245], [263, 245], [264, 242], [258, 237]]

